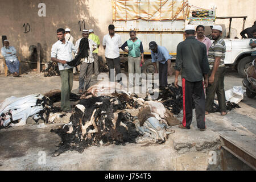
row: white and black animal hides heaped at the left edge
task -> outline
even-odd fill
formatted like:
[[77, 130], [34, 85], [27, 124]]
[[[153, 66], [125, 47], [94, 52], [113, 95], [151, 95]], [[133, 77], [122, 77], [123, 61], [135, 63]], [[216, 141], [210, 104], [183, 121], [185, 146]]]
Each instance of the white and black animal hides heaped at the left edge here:
[[[71, 93], [71, 101], [79, 100], [79, 96]], [[53, 106], [53, 102], [60, 101], [60, 90], [52, 90], [46, 94], [31, 94], [25, 97], [11, 96], [0, 104], [0, 129], [3, 127], [26, 125], [28, 117], [33, 117], [37, 123], [42, 119], [44, 123], [52, 123], [56, 117], [63, 117], [65, 113], [60, 107]]]

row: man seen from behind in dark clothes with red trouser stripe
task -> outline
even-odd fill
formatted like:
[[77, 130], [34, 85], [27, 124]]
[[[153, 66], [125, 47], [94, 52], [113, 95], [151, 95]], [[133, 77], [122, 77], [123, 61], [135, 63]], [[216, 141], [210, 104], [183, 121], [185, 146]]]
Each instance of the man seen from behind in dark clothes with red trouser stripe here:
[[[185, 40], [177, 45], [175, 67], [175, 81], [181, 71], [183, 88], [183, 121], [181, 129], [190, 129], [192, 122], [192, 101], [196, 107], [196, 122], [200, 131], [205, 130], [205, 95], [204, 86], [208, 86], [209, 63], [205, 44], [195, 39], [195, 28], [191, 25], [185, 27]], [[204, 82], [203, 82], [204, 77]]]

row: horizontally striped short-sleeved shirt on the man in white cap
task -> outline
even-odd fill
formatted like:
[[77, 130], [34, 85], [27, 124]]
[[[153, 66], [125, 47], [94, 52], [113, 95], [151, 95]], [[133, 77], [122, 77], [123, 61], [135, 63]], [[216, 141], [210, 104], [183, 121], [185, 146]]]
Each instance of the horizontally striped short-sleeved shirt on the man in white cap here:
[[210, 68], [213, 68], [213, 64], [215, 61], [215, 57], [221, 57], [220, 60], [220, 67], [225, 67], [224, 59], [225, 59], [225, 53], [226, 53], [226, 44], [223, 39], [218, 38], [212, 43], [212, 46], [209, 48], [208, 52], [208, 61]]

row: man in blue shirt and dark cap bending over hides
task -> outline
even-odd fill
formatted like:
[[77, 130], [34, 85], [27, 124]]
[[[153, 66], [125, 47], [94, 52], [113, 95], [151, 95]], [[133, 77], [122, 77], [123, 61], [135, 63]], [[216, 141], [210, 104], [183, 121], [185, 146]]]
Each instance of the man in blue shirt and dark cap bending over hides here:
[[171, 59], [167, 49], [163, 46], [158, 46], [156, 42], [152, 41], [149, 43], [149, 49], [151, 50], [151, 61], [155, 67], [155, 73], [158, 73], [156, 67], [156, 61], [159, 62], [159, 86], [166, 87], [168, 85], [167, 76], [172, 75], [171, 72]]

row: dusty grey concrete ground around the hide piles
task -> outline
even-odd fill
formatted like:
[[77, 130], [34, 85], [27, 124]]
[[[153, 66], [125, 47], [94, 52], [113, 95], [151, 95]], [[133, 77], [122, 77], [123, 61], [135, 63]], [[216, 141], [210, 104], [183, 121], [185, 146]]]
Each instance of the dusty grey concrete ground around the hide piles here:
[[[242, 78], [236, 71], [228, 69], [225, 77], [225, 90], [242, 85]], [[1, 73], [2, 92], [0, 101], [10, 96], [23, 97], [33, 93], [46, 93], [60, 89], [60, 77], [43, 77], [43, 73], [30, 72], [19, 78], [4, 77]], [[93, 84], [97, 78], [93, 77]], [[173, 82], [174, 76], [168, 77]], [[179, 81], [181, 85], [181, 80]], [[78, 92], [78, 81], [73, 81], [72, 92]], [[226, 154], [220, 147], [218, 131], [234, 131], [243, 135], [256, 134], [256, 102], [247, 98], [239, 103], [240, 109], [229, 111], [225, 116], [210, 113], [205, 117], [206, 131], [199, 131], [195, 117], [191, 130], [174, 126], [164, 144], [129, 144], [89, 147], [82, 154], [76, 151], [64, 152], [52, 158], [60, 138], [50, 133], [61, 123], [26, 126], [0, 130], [0, 170], [246, 170], [246, 164]], [[195, 113], [194, 113], [195, 116]], [[181, 121], [182, 113], [178, 116]], [[255, 145], [255, 143], [252, 143]], [[44, 158], [45, 156], [45, 158]], [[216, 156], [216, 160], [210, 161]], [[45, 159], [45, 160], [44, 160]], [[225, 162], [225, 163], [224, 163]]]

